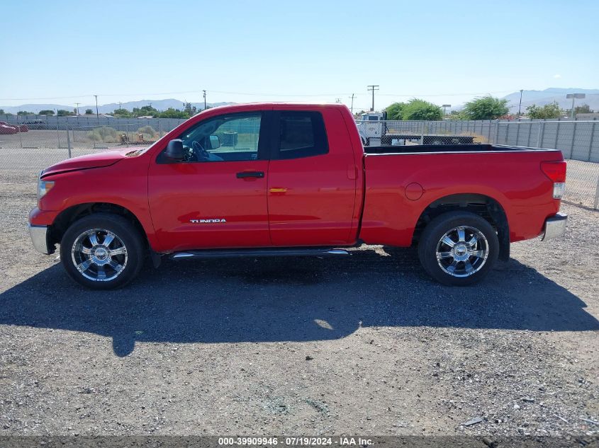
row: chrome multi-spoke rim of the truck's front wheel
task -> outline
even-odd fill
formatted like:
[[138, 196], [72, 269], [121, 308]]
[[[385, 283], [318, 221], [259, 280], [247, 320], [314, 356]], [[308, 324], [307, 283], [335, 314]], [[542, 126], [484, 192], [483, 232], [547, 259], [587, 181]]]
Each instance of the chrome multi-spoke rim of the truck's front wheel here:
[[128, 260], [123, 240], [106, 229], [89, 229], [77, 236], [71, 255], [79, 273], [94, 282], [116, 279]]

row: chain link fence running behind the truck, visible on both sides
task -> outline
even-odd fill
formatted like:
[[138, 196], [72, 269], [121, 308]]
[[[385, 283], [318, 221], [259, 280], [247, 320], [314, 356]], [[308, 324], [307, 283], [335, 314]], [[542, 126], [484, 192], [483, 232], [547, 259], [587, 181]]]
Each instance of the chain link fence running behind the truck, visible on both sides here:
[[[6, 125], [3, 125], [5, 122]], [[184, 120], [6, 117], [0, 171], [36, 175], [69, 157], [108, 148], [147, 147]], [[560, 149], [568, 160], [565, 199], [599, 208], [599, 121], [358, 121], [364, 144], [507, 144]]]

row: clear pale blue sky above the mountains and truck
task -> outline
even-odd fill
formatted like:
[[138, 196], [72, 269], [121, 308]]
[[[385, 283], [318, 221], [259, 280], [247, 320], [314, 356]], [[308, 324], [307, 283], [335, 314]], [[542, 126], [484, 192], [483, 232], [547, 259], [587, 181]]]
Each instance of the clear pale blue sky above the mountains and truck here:
[[[599, 87], [599, 1], [11, 1], [0, 104], [458, 104]], [[184, 93], [180, 93], [184, 92]], [[161, 94], [162, 93], [162, 94]], [[65, 98], [68, 97], [68, 98]]]

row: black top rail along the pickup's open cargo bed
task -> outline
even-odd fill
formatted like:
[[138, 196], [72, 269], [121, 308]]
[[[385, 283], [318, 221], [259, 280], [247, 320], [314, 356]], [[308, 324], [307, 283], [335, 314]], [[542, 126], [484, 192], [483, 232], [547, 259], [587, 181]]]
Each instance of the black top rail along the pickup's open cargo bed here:
[[522, 152], [522, 151], [556, 151], [554, 149], [510, 147], [493, 144], [418, 144], [381, 147], [364, 147], [365, 154], [427, 154], [427, 153], [461, 153], [461, 152]]

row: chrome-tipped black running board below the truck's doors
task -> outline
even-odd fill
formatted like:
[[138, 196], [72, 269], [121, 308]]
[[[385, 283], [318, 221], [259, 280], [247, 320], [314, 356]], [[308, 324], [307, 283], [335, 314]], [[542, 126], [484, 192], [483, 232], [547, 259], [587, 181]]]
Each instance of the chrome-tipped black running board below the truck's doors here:
[[330, 257], [335, 255], [350, 255], [345, 249], [322, 248], [284, 248], [284, 249], [233, 249], [233, 250], [204, 250], [176, 252], [171, 255], [173, 260], [183, 258], [234, 258], [234, 257]]

